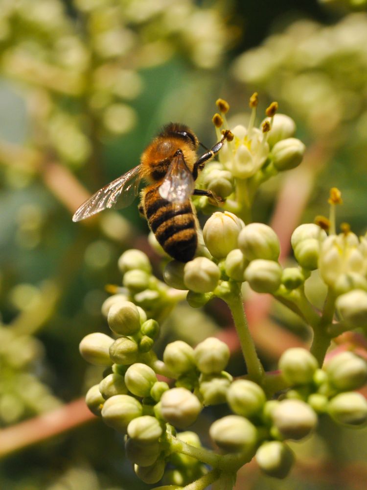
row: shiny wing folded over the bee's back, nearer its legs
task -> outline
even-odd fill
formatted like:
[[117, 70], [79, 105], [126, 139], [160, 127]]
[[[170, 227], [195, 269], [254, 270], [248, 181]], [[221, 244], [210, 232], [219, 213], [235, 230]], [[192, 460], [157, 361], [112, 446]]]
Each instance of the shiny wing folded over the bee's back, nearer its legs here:
[[174, 156], [168, 171], [159, 188], [163, 199], [170, 202], [184, 202], [190, 198], [195, 189], [195, 182], [187, 167], [184, 155], [179, 153]]

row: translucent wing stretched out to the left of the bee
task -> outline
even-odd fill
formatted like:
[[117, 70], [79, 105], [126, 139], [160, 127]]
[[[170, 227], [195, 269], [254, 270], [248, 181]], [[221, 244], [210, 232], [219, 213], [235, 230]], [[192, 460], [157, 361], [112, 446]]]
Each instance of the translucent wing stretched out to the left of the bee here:
[[72, 221], [84, 220], [106, 208], [124, 208], [138, 195], [140, 165], [99, 189], [75, 211]]

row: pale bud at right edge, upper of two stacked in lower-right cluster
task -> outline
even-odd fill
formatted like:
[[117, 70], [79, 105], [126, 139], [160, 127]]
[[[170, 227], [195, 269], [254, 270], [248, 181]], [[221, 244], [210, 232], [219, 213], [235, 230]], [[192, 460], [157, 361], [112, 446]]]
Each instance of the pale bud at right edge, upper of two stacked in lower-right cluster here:
[[367, 362], [353, 352], [341, 352], [326, 364], [329, 383], [338, 391], [361, 388], [367, 382]]

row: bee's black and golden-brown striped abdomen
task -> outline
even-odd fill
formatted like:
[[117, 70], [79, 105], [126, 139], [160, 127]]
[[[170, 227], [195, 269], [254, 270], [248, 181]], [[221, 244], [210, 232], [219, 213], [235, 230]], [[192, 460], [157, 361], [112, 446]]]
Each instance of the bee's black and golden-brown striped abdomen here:
[[143, 196], [143, 208], [149, 227], [171, 257], [188, 262], [194, 258], [198, 245], [191, 202], [167, 201], [161, 197], [158, 188], [159, 185], [150, 186]]

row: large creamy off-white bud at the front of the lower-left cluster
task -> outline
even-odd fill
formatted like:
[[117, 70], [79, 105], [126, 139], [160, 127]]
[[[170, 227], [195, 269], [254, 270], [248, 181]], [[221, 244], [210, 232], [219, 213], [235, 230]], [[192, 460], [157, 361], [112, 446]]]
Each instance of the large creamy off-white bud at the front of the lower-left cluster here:
[[179, 429], [192, 425], [198, 418], [202, 405], [186, 388], [172, 388], [161, 397], [162, 417]]

